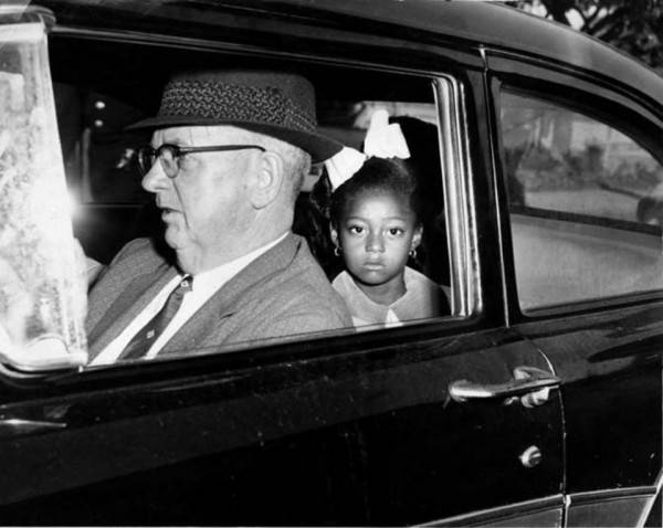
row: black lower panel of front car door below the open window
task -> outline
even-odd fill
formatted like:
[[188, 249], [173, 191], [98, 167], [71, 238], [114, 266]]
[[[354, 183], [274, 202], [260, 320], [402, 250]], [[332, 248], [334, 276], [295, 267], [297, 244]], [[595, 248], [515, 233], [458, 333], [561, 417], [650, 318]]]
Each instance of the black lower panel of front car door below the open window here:
[[[548, 371], [541, 356], [508, 332], [414, 345], [400, 334], [371, 352], [317, 344], [306, 360], [294, 347], [234, 366], [3, 377], [2, 519], [402, 524], [496, 508], [457, 522], [558, 526], [558, 397], [504, 404], [524, 393], [513, 369]], [[450, 398], [460, 380], [477, 400]]]

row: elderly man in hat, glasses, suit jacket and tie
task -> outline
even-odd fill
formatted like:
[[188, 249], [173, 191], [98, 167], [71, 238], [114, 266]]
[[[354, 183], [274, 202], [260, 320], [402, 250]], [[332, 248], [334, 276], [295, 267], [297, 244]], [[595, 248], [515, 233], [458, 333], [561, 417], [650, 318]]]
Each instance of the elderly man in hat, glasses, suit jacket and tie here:
[[316, 131], [311, 84], [272, 72], [179, 75], [139, 152], [172, 258], [130, 242], [90, 294], [92, 365], [201, 353], [350, 327], [306, 242], [291, 232], [312, 157], [340, 145]]

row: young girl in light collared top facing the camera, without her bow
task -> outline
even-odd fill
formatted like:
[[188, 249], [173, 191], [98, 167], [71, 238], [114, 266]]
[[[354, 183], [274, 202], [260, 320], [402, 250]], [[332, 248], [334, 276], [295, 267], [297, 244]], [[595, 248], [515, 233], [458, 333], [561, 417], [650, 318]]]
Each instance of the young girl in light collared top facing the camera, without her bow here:
[[407, 265], [423, 228], [417, 182], [402, 160], [368, 158], [332, 193], [329, 217], [346, 268], [333, 286], [355, 326], [398, 326], [449, 314], [440, 286]]

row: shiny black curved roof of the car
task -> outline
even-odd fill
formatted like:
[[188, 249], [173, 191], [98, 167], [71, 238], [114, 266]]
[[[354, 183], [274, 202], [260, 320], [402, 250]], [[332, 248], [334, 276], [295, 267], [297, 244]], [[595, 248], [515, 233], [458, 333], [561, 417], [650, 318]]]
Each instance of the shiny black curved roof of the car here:
[[[36, 0], [34, 3], [87, 17], [99, 8], [134, 18], [186, 13], [210, 23], [214, 13], [283, 17], [355, 31], [380, 31], [379, 25], [415, 30], [431, 38], [461, 40], [469, 45], [551, 60], [621, 82], [657, 104], [663, 101], [663, 76], [625, 53], [567, 25], [498, 2], [475, 0]], [[64, 8], [64, 11], [63, 9]], [[67, 17], [65, 17], [66, 19]], [[177, 18], [172, 18], [177, 22]], [[370, 24], [367, 24], [369, 22]], [[66, 23], [66, 21], [65, 21]], [[102, 21], [103, 23], [103, 21]], [[370, 27], [370, 30], [367, 29]], [[168, 28], [177, 32], [177, 23]], [[393, 34], [393, 33], [390, 33]]]

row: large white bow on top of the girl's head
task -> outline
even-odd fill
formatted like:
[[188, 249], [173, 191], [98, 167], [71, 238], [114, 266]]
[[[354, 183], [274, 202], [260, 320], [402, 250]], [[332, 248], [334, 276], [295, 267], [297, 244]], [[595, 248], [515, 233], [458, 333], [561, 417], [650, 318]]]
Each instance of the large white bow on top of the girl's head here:
[[340, 152], [325, 161], [332, 190], [338, 189], [349, 180], [364, 165], [375, 156], [377, 158], [410, 157], [406, 137], [397, 123], [389, 124], [389, 114], [378, 109], [370, 118], [370, 125], [364, 139], [364, 152], [350, 147], [344, 147]]

